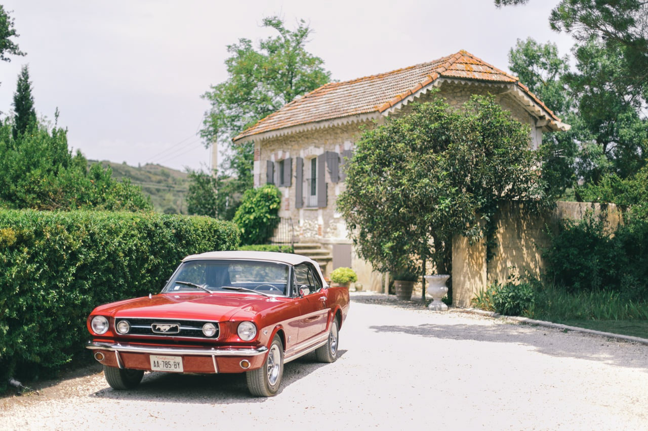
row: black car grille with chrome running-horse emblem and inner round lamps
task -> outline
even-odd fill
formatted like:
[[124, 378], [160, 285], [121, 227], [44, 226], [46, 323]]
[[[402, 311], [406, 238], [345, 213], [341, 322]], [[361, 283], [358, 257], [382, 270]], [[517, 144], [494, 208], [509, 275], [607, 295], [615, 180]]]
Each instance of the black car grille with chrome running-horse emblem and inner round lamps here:
[[[209, 320], [169, 320], [169, 319], [141, 319], [141, 318], [117, 318], [115, 324], [126, 320], [130, 324], [130, 331], [124, 335], [147, 335], [152, 337], [190, 337], [214, 340], [218, 338], [220, 327], [218, 322]], [[211, 337], [205, 337], [202, 327], [206, 323], [213, 323], [216, 326], [216, 333]], [[118, 333], [119, 334], [119, 333]], [[119, 334], [121, 335], [121, 334]]]

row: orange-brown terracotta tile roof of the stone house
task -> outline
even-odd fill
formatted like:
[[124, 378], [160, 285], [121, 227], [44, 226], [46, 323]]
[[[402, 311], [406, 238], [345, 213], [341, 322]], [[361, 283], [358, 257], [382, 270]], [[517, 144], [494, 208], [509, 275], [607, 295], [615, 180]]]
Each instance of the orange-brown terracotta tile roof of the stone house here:
[[536, 96], [529, 93], [527, 87], [518, 82], [518, 78], [461, 50], [428, 63], [351, 81], [327, 83], [262, 118], [234, 140], [312, 122], [382, 113], [438, 78], [517, 83], [538, 105], [548, 111], [554, 120], [559, 120]]

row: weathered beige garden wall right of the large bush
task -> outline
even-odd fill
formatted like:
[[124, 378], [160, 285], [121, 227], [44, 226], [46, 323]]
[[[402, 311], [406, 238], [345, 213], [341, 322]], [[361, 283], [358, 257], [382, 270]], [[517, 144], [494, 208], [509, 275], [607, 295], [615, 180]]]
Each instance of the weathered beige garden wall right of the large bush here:
[[[621, 220], [614, 204], [608, 205], [608, 227]], [[509, 276], [540, 278], [544, 272], [542, 249], [550, 245], [547, 228], [555, 229], [561, 219], [580, 220], [586, 212], [601, 214], [601, 206], [593, 203], [559, 202], [550, 214], [529, 214], [522, 204], [504, 206], [497, 216], [496, 247], [491, 260], [486, 260], [483, 241], [470, 245], [456, 236], [452, 241], [452, 302], [469, 307], [470, 300], [487, 285], [504, 283]]]

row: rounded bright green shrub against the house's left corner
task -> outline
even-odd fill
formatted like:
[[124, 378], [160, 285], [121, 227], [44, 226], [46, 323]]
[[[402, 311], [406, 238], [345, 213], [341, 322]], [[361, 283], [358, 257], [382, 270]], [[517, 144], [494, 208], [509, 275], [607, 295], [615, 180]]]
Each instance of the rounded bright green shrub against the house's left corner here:
[[272, 184], [247, 190], [234, 216], [246, 245], [262, 244], [272, 236], [279, 224], [281, 192]]

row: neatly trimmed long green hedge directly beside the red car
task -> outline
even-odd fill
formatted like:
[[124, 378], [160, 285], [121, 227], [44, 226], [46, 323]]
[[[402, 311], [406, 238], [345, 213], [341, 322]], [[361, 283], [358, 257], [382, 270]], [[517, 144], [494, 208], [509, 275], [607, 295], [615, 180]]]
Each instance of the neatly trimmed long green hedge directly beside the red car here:
[[209, 217], [0, 210], [0, 390], [81, 351], [97, 305], [157, 293], [183, 257], [238, 240]]

